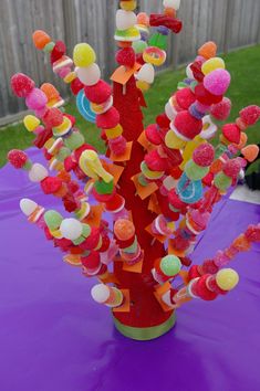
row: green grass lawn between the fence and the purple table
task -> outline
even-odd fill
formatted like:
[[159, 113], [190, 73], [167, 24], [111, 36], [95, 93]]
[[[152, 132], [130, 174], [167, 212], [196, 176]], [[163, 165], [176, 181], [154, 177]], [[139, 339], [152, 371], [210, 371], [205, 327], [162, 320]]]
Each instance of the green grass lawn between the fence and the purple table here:
[[[242, 49], [223, 56], [227, 70], [231, 73], [231, 86], [228, 97], [232, 101], [230, 120], [233, 120], [239, 110], [250, 104], [260, 106], [260, 45]], [[164, 110], [165, 103], [176, 89], [178, 81], [185, 77], [185, 70], [166, 71], [157, 75], [153, 87], [146, 94], [148, 108], [144, 110], [145, 125], [155, 120], [156, 114]], [[100, 131], [94, 125], [86, 123], [77, 113], [73, 101], [65, 107], [67, 113], [76, 116], [77, 127], [84, 134], [86, 141], [93, 144], [104, 152], [104, 144], [100, 139]], [[260, 125], [248, 130], [249, 142], [260, 144]], [[25, 149], [31, 145], [31, 136], [22, 124], [13, 124], [0, 129], [0, 167], [6, 162], [7, 152], [12, 148]], [[254, 165], [256, 166], [256, 165]]]

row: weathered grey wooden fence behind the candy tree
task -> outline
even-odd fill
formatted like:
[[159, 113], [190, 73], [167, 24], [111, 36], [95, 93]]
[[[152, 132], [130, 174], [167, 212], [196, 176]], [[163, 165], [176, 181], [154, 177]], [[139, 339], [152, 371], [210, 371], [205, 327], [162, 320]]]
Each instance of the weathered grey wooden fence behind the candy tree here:
[[[162, 10], [162, 0], [139, 0], [139, 10]], [[114, 68], [115, 11], [117, 0], [0, 0], [0, 124], [24, 109], [12, 95], [10, 77], [30, 75], [38, 84], [50, 81], [66, 95], [66, 86], [52, 73], [46, 56], [32, 44], [31, 34], [45, 30], [53, 40], [64, 40], [69, 53], [87, 41], [97, 53], [103, 76]], [[184, 64], [199, 45], [217, 42], [219, 52], [260, 42], [260, 0], [181, 0], [184, 29], [170, 38], [167, 66]]]

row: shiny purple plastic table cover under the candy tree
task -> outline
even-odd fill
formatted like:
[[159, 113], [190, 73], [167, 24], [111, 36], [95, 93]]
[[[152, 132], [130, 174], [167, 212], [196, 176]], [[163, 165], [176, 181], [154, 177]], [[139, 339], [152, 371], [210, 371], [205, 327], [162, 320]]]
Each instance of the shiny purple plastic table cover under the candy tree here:
[[[29, 150], [41, 161], [35, 149]], [[175, 328], [157, 340], [121, 336], [110, 310], [95, 304], [79, 268], [62, 262], [43, 233], [27, 222], [19, 199], [46, 208], [27, 172], [0, 170], [1, 391], [257, 391], [260, 390], [260, 247], [232, 266], [239, 286], [212, 303], [177, 311]], [[260, 207], [225, 199], [200, 239], [194, 261], [212, 256], [259, 222]]]

